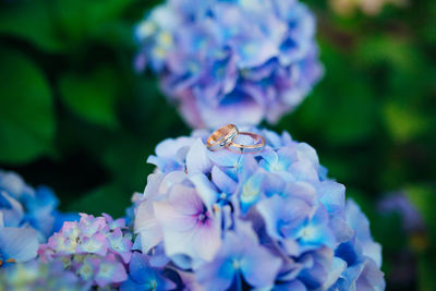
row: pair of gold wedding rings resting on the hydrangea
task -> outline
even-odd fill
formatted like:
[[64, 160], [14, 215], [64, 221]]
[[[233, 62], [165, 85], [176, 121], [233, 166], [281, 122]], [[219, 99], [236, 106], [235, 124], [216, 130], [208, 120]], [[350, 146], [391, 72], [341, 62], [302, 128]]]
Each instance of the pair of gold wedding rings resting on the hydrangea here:
[[[242, 145], [233, 143], [238, 135], [247, 135], [254, 140], [253, 145]], [[213, 151], [228, 148], [237, 154], [258, 153], [265, 147], [265, 138], [262, 135], [252, 132], [240, 132], [234, 124], [227, 124], [210, 134], [207, 138], [206, 146]]]

